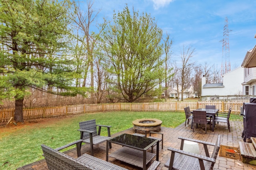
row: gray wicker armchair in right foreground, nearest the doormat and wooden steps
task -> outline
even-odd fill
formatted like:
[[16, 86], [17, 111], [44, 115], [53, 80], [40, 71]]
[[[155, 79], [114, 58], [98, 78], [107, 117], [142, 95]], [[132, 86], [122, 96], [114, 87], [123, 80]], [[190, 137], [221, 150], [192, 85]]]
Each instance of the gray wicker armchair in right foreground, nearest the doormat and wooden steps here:
[[[179, 139], [182, 139], [180, 149], [168, 148], [168, 150], [172, 151], [172, 154], [171, 158], [164, 165], [165, 167], [169, 168], [169, 170], [213, 170], [220, 149], [220, 135], [218, 135], [215, 144], [184, 137], [179, 137]], [[184, 140], [203, 144], [206, 156], [182, 150]], [[207, 145], [214, 146], [211, 157]]]

